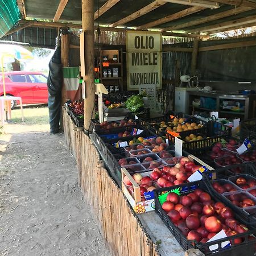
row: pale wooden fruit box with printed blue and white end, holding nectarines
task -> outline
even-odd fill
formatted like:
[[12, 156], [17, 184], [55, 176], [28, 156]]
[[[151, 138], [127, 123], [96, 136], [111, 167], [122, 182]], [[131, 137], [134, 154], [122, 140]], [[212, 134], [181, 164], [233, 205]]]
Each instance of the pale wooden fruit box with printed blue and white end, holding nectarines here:
[[[187, 156], [189, 160], [191, 160], [192, 162], [195, 162], [196, 164], [200, 164], [201, 166], [205, 166], [208, 168], [208, 170], [212, 170], [212, 167], [208, 166], [207, 164], [205, 164], [195, 156], [187, 155], [187, 152], [184, 152], [184, 156]], [[141, 174], [142, 177], [145, 177], [145, 176], [149, 176], [151, 172], [152, 170], [149, 170], [149, 171], [139, 172], [139, 174]], [[147, 197], [146, 200], [142, 201], [141, 190], [139, 188], [139, 185], [135, 182], [133, 177], [131, 177], [131, 174], [129, 173], [129, 171], [127, 171], [126, 168], [121, 168], [121, 175], [122, 175], [122, 191], [125, 194], [131, 206], [133, 207], [134, 211], [136, 213], [144, 213], [144, 212], [150, 212], [151, 210], [154, 210], [155, 209], [154, 193], [147, 192], [146, 194], [144, 194], [145, 197]], [[130, 183], [132, 184], [130, 187], [127, 187], [123, 182], [123, 179], [125, 176], [127, 176], [127, 178], [130, 180]], [[129, 188], [133, 191], [132, 193], [129, 192]]]

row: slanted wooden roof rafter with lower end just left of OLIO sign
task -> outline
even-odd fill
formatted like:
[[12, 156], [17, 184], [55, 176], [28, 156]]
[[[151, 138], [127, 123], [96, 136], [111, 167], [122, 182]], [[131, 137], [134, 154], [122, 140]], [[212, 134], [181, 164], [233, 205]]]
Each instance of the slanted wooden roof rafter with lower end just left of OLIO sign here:
[[117, 22], [114, 22], [113, 24], [110, 25], [110, 27], [117, 27], [127, 22], [130, 22], [131, 20], [137, 19], [144, 14], [150, 13], [150, 11], [155, 10], [156, 8], [165, 4], [166, 2], [164, 2], [163, 0], [156, 0], [150, 3], [150, 5], [143, 7], [141, 10], [135, 11], [135, 13], [129, 16], [126, 16], [125, 18], [118, 20]]

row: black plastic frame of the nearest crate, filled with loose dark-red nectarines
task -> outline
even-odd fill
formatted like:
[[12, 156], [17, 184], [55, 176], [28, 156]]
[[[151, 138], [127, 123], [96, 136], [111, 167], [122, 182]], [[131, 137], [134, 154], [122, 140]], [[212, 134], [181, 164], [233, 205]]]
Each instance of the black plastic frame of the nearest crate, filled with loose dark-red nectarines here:
[[[256, 233], [256, 229], [253, 226], [248, 226], [249, 232], [243, 233], [243, 234], [238, 234], [236, 236], [232, 237], [227, 237], [227, 238], [222, 238], [220, 240], [216, 240], [213, 242], [208, 242], [208, 243], [201, 243], [201, 242], [196, 242], [196, 241], [189, 241], [187, 240], [186, 237], [183, 236], [181, 231], [174, 225], [174, 223], [170, 220], [168, 217], [167, 213], [164, 212], [162, 209], [162, 206], [160, 204], [159, 195], [162, 195], [164, 192], [171, 191], [173, 189], [181, 189], [181, 195], [187, 195], [188, 193], [191, 193], [195, 191], [196, 188], [200, 188], [205, 192], [210, 193], [208, 188], [205, 186], [204, 181], [195, 181], [191, 183], [185, 183], [181, 185], [176, 185], [171, 188], [160, 188], [160, 189], [155, 189], [155, 210], [156, 213], [162, 218], [164, 224], [166, 224], [167, 228], [171, 231], [171, 233], [174, 235], [175, 239], [180, 243], [181, 247], [183, 247], [184, 250], [188, 250], [191, 248], [196, 248], [202, 251], [205, 255], [223, 255], [223, 256], [241, 256], [245, 255], [254, 255], [255, 253], [255, 248], [256, 248], [256, 240], [249, 240], [249, 236], [254, 235]], [[211, 194], [210, 194], [211, 195]], [[211, 195], [213, 201], [220, 201], [218, 200], [214, 195]], [[245, 224], [243, 219], [239, 216], [239, 214], [235, 213], [235, 218], [241, 222], [242, 224]], [[221, 248], [221, 243], [225, 241], [230, 241], [234, 240], [234, 238], [238, 237], [243, 237], [244, 240], [238, 245], [230, 245], [227, 248]], [[218, 245], [218, 248], [216, 250], [210, 251], [209, 246], [211, 245]]]

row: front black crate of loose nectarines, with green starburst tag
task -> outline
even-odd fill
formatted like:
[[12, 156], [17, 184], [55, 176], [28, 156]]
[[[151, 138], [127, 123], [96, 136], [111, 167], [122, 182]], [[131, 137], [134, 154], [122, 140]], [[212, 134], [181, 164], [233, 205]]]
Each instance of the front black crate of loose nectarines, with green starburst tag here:
[[[187, 237], [185, 237], [185, 235], [181, 233], [181, 230], [177, 228], [174, 222], [171, 221], [171, 218], [168, 216], [167, 212], [163, 210], [160, 200], [162, 201], [162, 203], [166, 201], [166, 196], [163, 195], [164, 193], [167, 192], [180, 193], [181, 196], [184, 196], [188, 195], [188, 193], [195, 191], [195, 189], [197, 188], [201, 189], [203, 192], [209, 193], [214, 202], [220, 201], [210, 193], [210, 191], [205, 186], [203, 180], [187, 184], [176, 185], [175, 187], [171, 188], [155, 189], [154, 191], [156, 213], [160, 216], [160, 218], [162, 218], [164, 224], [166, 224], [167, 228], [174, 235], [176, 240], [180, 243], [181, 247], [183, 247], [184, 250], [192, 248], [199, 249], [201, 252], [204, 253], [204, 255], [254, 255], [256, 246], [256, 230], [254, 227], [251, 227], [249, 225], [247, 225], [247, 228], [249, 228], [249, 230], [245, 233], [236, 234], [235, 236], [226, 236], [225, 232], [222, 230], [222, 234], [224, 233], [224, 236], [222, 238], [210, 242], [204, 241], [204, 243], [201, 241], [197, 242], [196, 240], [187, 240]], [[161, 196], [163, 197], [162, 199], [159, 198]], [[234, 218], [236, 218], [236, 220], [239, 221], [241, 224], [245, 225], [245, 222], [243, 222], [243, 219], [240, 217], [239, 214], [234, 213]], [[182, 228], [182, 226], [180, 228]], [[189, 230], [187, 230], [187, 232], [188, 231]]]

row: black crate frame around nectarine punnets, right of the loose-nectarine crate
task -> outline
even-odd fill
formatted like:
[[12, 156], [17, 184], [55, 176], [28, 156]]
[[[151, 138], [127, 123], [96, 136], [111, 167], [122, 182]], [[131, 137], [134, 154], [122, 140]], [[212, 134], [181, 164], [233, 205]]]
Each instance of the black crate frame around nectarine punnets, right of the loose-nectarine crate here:
[[[234, 212], [237, 212], [238, 214], [240, 214], [241, 218], [245, 223], [256, 227], [256, 213], [249, 214], [245, 212], [245, 210], [242, 210], [242, 208], [236, 207], [234, 204], [232, 204], [231, 201], [226, 199], [226, 197], [218, 193], [212, 187], [212, 183], [210, 181], [213, 179], [228, 179], [229, 177], [232, 177], [238, 174], [250, 174], [256, 177], [256, 168], [253, 164], [234, 164], [232, 166], [208, 171], [207, 174], [203, 174], [203, 180], [205, 185], [209, 189], [211, 195], [214, 195], [216, 198], [218, 198], [218, 200], [224, 201], [229, 208], [231, 208]], [[210, 179], [210, 175], [212, 175], [212, 179]]]

